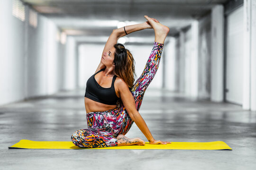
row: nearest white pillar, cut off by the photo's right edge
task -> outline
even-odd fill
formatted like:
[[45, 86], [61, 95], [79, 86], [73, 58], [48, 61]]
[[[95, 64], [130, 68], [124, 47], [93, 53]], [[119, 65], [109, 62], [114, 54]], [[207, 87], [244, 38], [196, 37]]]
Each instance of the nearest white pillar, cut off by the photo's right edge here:
[[244, 0], [243, 109], [256, 110], [256, 0]]

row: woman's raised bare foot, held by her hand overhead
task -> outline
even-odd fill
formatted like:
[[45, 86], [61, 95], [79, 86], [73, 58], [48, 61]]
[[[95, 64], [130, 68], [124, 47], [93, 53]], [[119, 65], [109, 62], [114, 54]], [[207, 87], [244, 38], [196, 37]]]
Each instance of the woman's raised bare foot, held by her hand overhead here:
[[163, 24], [159, 23], [159, 21], [155, 18], [151, 18], [148, 16], [144, 16], [147, 21], [149, 22], [149, 24], [153, 27], [153, 29], [155, 30], [155, 34], [165, 34], [167, 35], [170, 31], [170, 28], [168, 28], [167, 26], [164, 26]]

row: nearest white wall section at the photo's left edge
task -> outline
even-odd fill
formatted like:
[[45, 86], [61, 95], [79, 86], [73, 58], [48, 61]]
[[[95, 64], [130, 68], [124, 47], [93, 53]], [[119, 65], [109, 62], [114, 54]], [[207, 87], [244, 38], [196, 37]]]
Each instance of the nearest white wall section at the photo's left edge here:
[[24, 98], [25, 23], [12, 15], [12, 1], [0, 0], [0, 104]]

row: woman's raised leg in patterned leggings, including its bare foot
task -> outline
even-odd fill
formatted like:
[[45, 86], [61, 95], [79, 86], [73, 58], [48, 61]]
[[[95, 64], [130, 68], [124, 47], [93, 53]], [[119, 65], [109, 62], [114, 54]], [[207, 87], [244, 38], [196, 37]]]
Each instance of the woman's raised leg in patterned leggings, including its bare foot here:
[[[141, 102], [146, 91], [146, 88], [153, 80], [156, 71], [159, 67], [159, 62], [164, 47], [164, 41], [170, 30], [167, 26], [155, 22], [152, 18], [146, 16], [146, 19], [149, 21], [149, 23], [155, 30], [155, 42], [153, 45], [153, 49], [150, 53], [150, 56], [147, 60], [146, 66], [143, 70], [143, 73], [136, 80], [133, 88], [131, 89], [131, 93], [134, 96], [137, 110], [139, 110], [141, 106]], [[116, 135], [125, 135], [132, 126], [132, 124], [133, 120], [129, 117], [127, 110], [124, 108], [124, 106], [121, 106], [117, 115], [117, 125], [120, 129], [119, 132], [116, 133]]]

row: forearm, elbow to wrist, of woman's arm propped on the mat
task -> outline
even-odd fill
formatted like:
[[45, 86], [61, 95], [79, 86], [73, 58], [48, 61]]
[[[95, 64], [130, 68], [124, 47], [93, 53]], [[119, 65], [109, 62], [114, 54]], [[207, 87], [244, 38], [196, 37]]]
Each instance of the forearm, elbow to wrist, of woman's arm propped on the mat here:
[[146, 136], [147, 140], [153, 141], [155, 140], [154, 137], [152, 136], [151, 132], [149, 131], [148, 127], [146, 126], [146, 122], [144, 119], [141, 117], [139, 112], [133, 114], [132, 120], [136, 123], [137, 127], [141, 130], [141, 132]]

